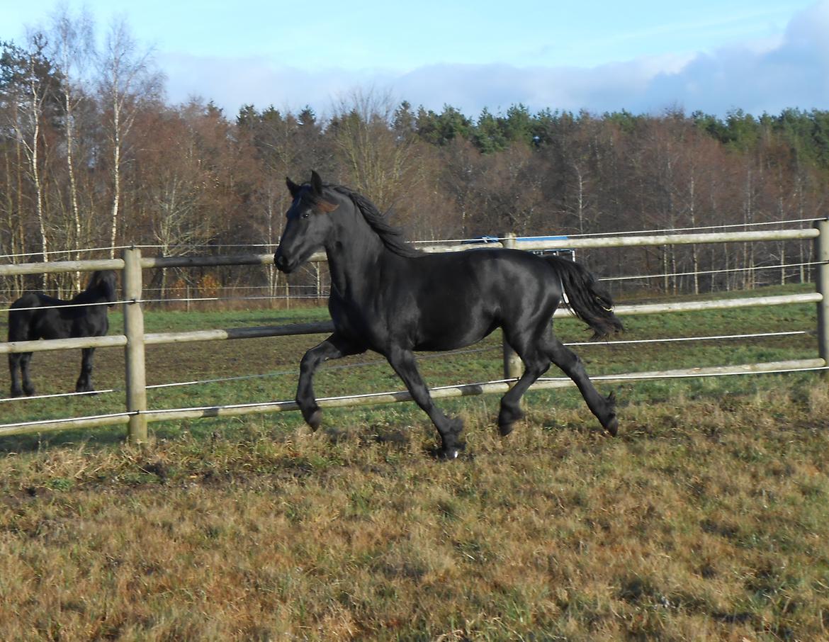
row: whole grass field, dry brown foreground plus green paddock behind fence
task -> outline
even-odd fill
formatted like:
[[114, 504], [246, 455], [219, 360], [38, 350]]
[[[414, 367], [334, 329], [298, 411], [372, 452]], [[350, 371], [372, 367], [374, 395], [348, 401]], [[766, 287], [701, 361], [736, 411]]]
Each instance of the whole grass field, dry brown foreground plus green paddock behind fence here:
[[[147, 331], [322, 318], [149, 313]], [[625, 319], [625, 338], [807, 330], [814, 306]], [[119, 328], [114, 318], [114, 328]], [[556, 323], [567, 341], [578, 323]], [[2, 330], [0, 330], [2, 332]], [[316, 338], [153, 348], [151, 406], [289, 399]], [[814, 337], [577, 348], [591, 374], [812, 357]], [[485, 352], [421, 360], [431, 385], [500, 377]], [[80, 355], [36, 354], [40, 392]], [[122, 387], [99, 351], [98, 387]], [[364, 355], [318, 392], [400, 389]], [[332, 364], [334, 365], [334, 364]], [[284, 373], [284, 374], [279, 374]], [[7, 380], [3, 380], [6, 381]], [[5, 383], [3, 385], [6, 385]], [[607, 386], [599, 386], [607, 390]], [[577, 393], [442, 404], [441, 464], [410, 403], [0, 439], [0, 640], [829, 640], [829, 390], [817, 375], [613, 386], [620, 435]], [[123, 393], [2, 406], [2, 422], [120, 410]]]

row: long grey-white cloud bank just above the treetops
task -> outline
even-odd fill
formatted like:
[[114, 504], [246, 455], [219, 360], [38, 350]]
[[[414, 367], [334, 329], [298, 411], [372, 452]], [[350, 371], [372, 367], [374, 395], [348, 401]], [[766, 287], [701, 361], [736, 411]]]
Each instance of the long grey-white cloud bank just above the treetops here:
[[263, 58], [206, 59], [167, 56], [173, 102], [201, 95], [235, 114], [240, 105], [259, 109], [302, 109], [324, 114], [357, 86], [392, 90], [400, 100], [440, 110], [453, 105], [468, 115], [521, 103], [602, 113], [628, 109], [725, 115], [739, 108], [751, 114], [787, 107], [829, 109], [829, 0], [798, 13], [782, 38], [745, 42], [693, 56], [654, 56], [600, 66], [516, 67], [433, 65], [408, 73], [392, 71], [303, 71]]

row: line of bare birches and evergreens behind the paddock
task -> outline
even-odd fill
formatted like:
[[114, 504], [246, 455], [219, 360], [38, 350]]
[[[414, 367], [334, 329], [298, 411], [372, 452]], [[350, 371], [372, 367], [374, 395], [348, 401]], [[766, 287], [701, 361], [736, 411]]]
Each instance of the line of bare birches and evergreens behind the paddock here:
[[[305, 180], [312, 168], [366, 194], [416, 240], [827, 215], [827, 111], [720, 117], [512, 105], [469, 116], [354, 90], [324, 117], [255, 105], [230, 115], [204, 99], [169, 104], [161, 71], [123, 20], [99, 51], [94, 32], [90, 17], [63, 12], [22, 43], [0, 41], [3, 262], [97, 258], [133, 244], [159, 255], [274, 244], [288, 208], [284, 179]], [[589, 255], [594, 269], [666, 275], [807, 260], [803, 244]], [[213, 270], [211, 278], [231, 277]], [[269, 270], [232, 278], [278, 286]], [[801, 267], [774, 278], [806, 276]], [[157, 279], [167, 288], [166, 274]], [[666, 276], [648, 287], [700, 291], [756, 279], [754, 270]], [[26, 286], [8, 281], [10, 296]], [[80, 275], [41, 285], [76, 289]]]

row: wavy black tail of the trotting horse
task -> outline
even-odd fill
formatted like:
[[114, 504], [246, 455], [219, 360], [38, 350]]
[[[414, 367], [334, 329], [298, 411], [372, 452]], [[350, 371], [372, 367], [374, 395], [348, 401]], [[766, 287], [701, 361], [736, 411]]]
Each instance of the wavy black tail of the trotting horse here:
[[622, 322], [613, 314], [610, 294], [584, 266], [560, 256], [548, 255], [544, 258], [561, 279], [561, 286], [567, 294], [565, 305], [593, 328], [594, 339], [605, 338], [624, 329]]

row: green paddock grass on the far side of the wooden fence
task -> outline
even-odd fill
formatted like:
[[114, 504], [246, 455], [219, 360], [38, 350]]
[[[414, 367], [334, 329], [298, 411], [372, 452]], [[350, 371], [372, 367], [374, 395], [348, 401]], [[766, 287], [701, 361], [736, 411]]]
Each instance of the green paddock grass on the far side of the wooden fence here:
[[[789, 286], [785, 289], [769, 289], [763, 294], [807, 291], [810, 286]], [[737, 294], [728, 294], [726, 296]], [[151, 309], [145, 315], [147, 332], [187, 331], [206, 328], [240, 328], [260, 325], [303, 323], [327, 319], [324, 308], [292, 310], [240, 310], [163, 312]], [[5, 319], [2, 319], [4, 322]], [[810, 334], [784, 338], [759, 338], [717, 342], [638, 344], [618, 346], [584, 346], [574, 348], [587, 364], [591, 375], [619, 372], [642, 372], [680, 367], [716, 366], [750, 362], [780, 361], [792, 358], [814, 357], [817, 353], [812, 336], [815, 306], [770, 306], [738, 310], [713, 310], [681, 314], [653, 314], [628, 316], [623, 319], [625, 339], [667, 338], [693, 335], [731, 333], [758, 333], [803, 330]], [[112, 332], [119, 332], [122, 321], [119, 314], [111, 315]], [[582, 342], [589, 338], [584, 325], [574, 319], [561, 319], [555, 323], [556, 333], [565, 342]], [[0, 333], [3, 333], [0, 328]], [[148, 403], [152, 409], [187, 406], [219, 406], [293, 399], [298, 362], [305, 350], [318, 343], [323, 335], [285, 338], [245, 339], [200, 343], [182, 343], [147, 348], [147, 379], [149, 385], [175, 382], [205, 381], [226, 377], [249, 377], [237, 381], [206, 382], [185, 387], [163, 387], [148, 391]], [[470, 348], [472, 352], [457, 355], [422, 354], [419, 362], [424, 378], [430, 386], [453, 385], [467, 382], [484, 382], [502, 377], [501, 336], [493, 333], [484, 342]], [[95, 384], [98, 389], [116, 389], [118, 392], [80, 398], [13, 401], [0, 404], [0, 422], [34, 421], [56, 417], [89, 416], [124, 411], [124, 354], [120, 348], [99, 349], [96, 353]], [[70, 392], [77, 377], [80, 353], [36, 353], [32, 362], [33, 379], [40, 393]], [[560, 376], [555, 367], [549, 376]], [[647, 399], [667, 401], [672, 396], [684, 394], [750, 393], [759, 386], [774, 386], [768, 377], [728, 377], [724, 380], [640, 382], [635, 385], [613, 385], [618, 390], [621, 403]], [[764, 382], [772, 382], [765, 384]], [[601, 388], [607, 385], [599, 384]], [[384, 392], [402, 389], [385, 360], [374, 353], [349, 357], [330, 362], [318, 372], [318, 396], [341, 396], [362, 392]], [[451, 411], [464, 408], [492, 407], [496, 400], [448, 401], [443, 405]], [[577, 407], [582, 402], [573, 392], [531, 392], [530, 405]], [[494, 412], [494, 411], [493, 411]], [[329, 411], [328, 416], [337, 422], [349, 421], [396, 421], [405, 416], [411, 421], [419, 418], [413, 404], [366, 407], [342, 411]], [[295, 413], [275, 417], [273, 421], [288, 426], [297, 425]], [[587, 419], [589, 421], [589, 419]], [[188, 426], [196, 426], [192, 422]], [[204, 430], [213, 426], [233, 426], [235, 421], [204, 421]], [[175, 434], [181, 424], [153, 426], [163, 435]], [[222, 427], [221, 430], [225, 428]], [[101, 429], [106, 430], [106, 429]], [[123, 429], [114, 428], [123, 433]], [[196, 428], [196, 430], [200, 430]], [[100, 431], [100, 430], [98, 430]], [[75, 439], [76, 435], [72, 435]], [[33, 438], [32, 438], [33, 439]]]

